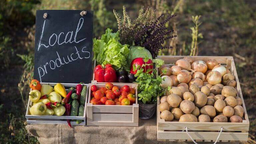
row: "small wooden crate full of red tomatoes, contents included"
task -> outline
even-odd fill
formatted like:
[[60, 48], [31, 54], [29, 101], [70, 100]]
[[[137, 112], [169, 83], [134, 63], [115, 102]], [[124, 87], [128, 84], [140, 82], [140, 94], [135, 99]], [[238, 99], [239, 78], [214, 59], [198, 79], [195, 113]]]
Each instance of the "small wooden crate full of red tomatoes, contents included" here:
[[91, 84], [87, 103], [87, 125], [138, 126], [137, 84]]

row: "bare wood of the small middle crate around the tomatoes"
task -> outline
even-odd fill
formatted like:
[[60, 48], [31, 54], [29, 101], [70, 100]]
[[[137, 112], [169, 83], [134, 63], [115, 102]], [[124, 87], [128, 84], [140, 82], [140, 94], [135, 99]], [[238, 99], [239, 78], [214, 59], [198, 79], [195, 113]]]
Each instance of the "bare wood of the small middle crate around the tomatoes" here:
[[[105, 83], [94, 84], [104, 87]], [[137, 97], [137, 84], [114, 84], [119, 88], [129, 85], [136, 90], [136, 103], [133, 105], [93, 105], [91, 101], [91, 89], [89, 89], [87, 109], [87, 125], [93, 126], [138, 126], [139, 104]]]

